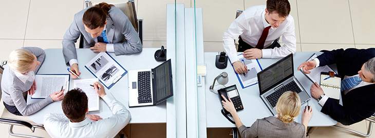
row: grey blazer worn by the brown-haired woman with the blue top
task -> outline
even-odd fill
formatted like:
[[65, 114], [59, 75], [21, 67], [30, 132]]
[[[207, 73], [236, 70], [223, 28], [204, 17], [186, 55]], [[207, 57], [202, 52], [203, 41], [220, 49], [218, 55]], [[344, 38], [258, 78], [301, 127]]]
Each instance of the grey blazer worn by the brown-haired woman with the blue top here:
[[[85, 31], [82, 22], [83, 14], [87, 9], [88, 8], [83, 9], [74, 15], [73, 22], [64, 35], [62, 43], [66, 63], [71, 59], [77, 59], [76, 45], [74, 43], [77, 42], [81, 33], [84, 36], [84, 48], [93, 47], [97, 42], [97, 39], [92, 38], [91, 35]], [[108, 42], [114, 43], [115, 54], [123, 55], [141, 52], [141, 39], [127, 16], [119, 8], [114, 6], [110, 8], [108, 13], [106, 35]]]

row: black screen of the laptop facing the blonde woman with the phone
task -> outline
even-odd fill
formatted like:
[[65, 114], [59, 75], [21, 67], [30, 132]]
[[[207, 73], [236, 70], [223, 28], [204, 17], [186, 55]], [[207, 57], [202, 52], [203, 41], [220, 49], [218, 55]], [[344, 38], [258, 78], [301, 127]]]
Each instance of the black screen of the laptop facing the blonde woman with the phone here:
[[293, 54], [290, 54], [258, 73], [260, 95], [292, 76]]

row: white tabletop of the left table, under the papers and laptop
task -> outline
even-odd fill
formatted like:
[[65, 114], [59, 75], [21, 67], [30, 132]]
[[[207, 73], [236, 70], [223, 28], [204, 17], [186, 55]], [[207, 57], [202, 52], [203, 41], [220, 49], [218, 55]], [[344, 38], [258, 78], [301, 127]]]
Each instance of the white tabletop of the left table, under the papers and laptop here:
[[[162, 62], [157, 62], [154, 59], [154, 52], [158, 49], [144, 48], [141, 53], [131, 55], [115, 56], [114, 53], [109, 53], [115, 60], [117, 60], [125, 70], [139, 70], [154, 68]], [[68, 74], [65, 60], [62, 54], [62, 49], [47, 49], [45, 50], [45, 60], [36, 74]], [[90, 49], [77, 49], [79, 69], [81, 71], [80, 77], [82, 79], [95, 78], [84, 65], [95, 57], [97, 54]], [[173, 69], [174, 70], [174, 69]], [[72, 89], [73, 83], [70, 78], [69, 89]], [[166, 122], [166, 102], [162, 102], [154, 106], [132, 107], [128, 106], [128, 75], [123, 76], [113, 87], [109, 90], [105, 88], [107, 94], [113, 95], [116, 100], [121, 102], [130, 111], [132, 119], [130, 123], [165, 123]], [[65, 91], [66, 93], [67, 91]], [[39, 101], [40, 99], [31, 99], [28, 95], [27, 104]], [[40, 111], [32, 114], [29, 118], [38, 124], [44, 123], [44, 116], [48, 113], [63, 113], [61, 101], [53, 102]], [[100, 111], [89, 112], [89, 114], [98, 114], [102, 118], [110, 117], [111, 111], [105, 104], [103, 99], [100, 100]]]

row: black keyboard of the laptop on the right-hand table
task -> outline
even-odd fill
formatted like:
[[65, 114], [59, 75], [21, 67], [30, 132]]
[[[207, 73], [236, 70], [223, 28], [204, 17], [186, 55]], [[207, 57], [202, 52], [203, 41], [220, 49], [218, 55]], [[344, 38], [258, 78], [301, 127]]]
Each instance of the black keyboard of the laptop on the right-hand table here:
[[291, 81], [287, 85], [284, 85], [283, 87], [274, 91], [271, 95], [267, 96], [266, 99], [268, 100], [268, 102], [270, 102], [272, 107], [275, 107], [278, 98], [289, 90], [294, 91], [296, 93], [301, 93], [302, 91], [294, 81]]

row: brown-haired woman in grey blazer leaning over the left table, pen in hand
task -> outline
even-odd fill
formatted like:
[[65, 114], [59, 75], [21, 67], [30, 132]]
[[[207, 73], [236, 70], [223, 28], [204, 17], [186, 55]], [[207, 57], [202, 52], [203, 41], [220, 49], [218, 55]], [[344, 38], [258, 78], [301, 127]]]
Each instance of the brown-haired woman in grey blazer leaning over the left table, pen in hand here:
[[[93, 52], [115, 52], [116, 55], [133, 54], [142, 51], [138, 33], [127, 16], [114, 5], [100, 3], [74, 15], [74, 19], [63, 38], [65, 63], [80, 75], [76, 45], [80, 35], [84, 48]], [[76, 78], [74, 75], [70, 75]]]

